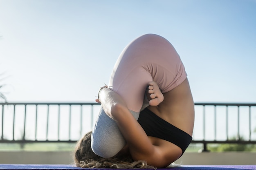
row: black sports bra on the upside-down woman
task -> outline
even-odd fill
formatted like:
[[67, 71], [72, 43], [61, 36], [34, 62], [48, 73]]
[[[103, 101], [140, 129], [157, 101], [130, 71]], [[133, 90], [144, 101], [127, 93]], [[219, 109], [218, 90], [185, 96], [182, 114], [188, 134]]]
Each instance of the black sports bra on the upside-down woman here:
[[158, 117], [148, 108], [140, 112], [138, 122], [148, 136], [164, 139], [179, 146], [182, 154], [192, 141], [189, 134]]

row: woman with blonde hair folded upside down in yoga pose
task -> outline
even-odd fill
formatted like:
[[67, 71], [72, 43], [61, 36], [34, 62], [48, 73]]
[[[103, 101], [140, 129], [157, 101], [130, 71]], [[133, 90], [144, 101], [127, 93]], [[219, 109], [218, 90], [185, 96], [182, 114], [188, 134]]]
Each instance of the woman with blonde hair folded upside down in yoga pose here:
[[[128, 161], [129, 167], [163, 168], [192, 140], [194, 102], [186, 71], [174, 47], [159, 35], [142, 35], [126, 46], [96, 101], [101, 110], [92, 132], [77, 144], [77, 166]], [[117, 158], [127, 158], [126, 163], [113, 162]]]

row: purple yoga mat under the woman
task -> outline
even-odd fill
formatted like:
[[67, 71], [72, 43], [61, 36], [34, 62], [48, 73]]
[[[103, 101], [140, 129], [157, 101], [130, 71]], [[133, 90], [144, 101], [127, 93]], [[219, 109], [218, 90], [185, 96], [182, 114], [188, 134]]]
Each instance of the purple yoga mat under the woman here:
[[[0, 164], [0, 169], [5, 170], [118, 170], [107, 168], [78, 168], [74, 165], [33, 165], [33, 164]], [[130, 170], [130, 169], [129, 169]], [[149, 169], [147, 169], [149, 170]], [[182, 165], [174, 168], [157, 168], [157, 170], [256, 170], [256, 165]]]

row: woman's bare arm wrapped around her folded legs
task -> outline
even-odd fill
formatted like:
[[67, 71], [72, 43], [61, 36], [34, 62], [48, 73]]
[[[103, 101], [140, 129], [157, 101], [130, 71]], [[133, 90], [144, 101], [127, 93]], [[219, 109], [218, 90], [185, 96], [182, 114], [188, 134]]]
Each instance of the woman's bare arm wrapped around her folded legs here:
[[103, 88], [99, 95], [101, 106], [106, 114], [117, 122], [119, 130], [126, 139], [130, 154], [135, 160], [146, 160], [157, 167], [168, 166], [174, 160], [168, 147], [152, 144], [143, 128], [132, 116], [124, 100], [114, 91]]

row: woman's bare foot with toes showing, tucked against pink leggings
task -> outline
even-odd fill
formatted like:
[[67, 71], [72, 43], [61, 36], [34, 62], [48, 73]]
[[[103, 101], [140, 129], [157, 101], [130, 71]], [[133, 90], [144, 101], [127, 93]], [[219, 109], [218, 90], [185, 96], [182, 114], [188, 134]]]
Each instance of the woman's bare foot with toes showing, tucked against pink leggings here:
[[148, 94], [150, 95], [150, 106], [157, 106], [164, 100], [164, 95], [160, 91], [156, 82], [152, 81], [148, 83]]

